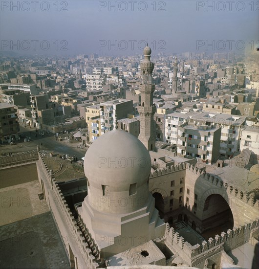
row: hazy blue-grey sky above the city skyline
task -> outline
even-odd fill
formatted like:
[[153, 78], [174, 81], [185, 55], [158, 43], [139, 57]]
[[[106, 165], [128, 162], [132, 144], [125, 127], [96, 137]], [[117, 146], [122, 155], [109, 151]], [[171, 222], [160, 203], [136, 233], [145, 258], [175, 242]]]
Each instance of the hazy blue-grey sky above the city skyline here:
[[142, 53], [143, 40], [154, 54], [241, 52], [259, 46], [259, 5], [252, 0], [1, 0], [0, 4], [0, 49], [19, 54], [133, 55]]

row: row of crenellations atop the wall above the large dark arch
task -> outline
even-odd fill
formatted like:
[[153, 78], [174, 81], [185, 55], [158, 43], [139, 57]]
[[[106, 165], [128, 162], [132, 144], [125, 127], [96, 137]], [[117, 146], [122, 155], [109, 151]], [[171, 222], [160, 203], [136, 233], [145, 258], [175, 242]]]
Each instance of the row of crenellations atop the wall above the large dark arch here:
[[205, 170], [195, 167], [190, 163], [187, 164], [187, 169], [195, 175], [199, 176], [201, 179], [204, 179], [210, 182], [212, 185], [224, 190], [227, 193], [228, 197], [234, 197], [242, 201], [243, 203], [247, 203], [255, 208], [259, 206], [259, 200], [255, 199], [254, 193], [245, 193], [244, 190], [240, 190], [237, 187], [230, 185], [227, 182], [224, 182], [218, 176], [207, 173]]

